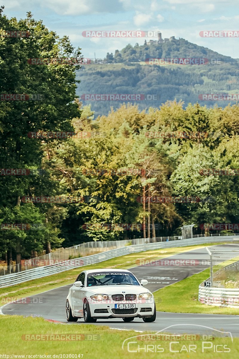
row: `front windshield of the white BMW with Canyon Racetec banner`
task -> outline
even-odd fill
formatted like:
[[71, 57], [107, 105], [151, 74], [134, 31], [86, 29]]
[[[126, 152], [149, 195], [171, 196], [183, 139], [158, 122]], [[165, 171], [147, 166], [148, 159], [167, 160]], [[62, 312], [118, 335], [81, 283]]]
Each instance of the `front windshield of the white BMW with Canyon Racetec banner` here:
[[87, 287], [98, 285], [140, 285], [132, 273], [92, 272], [87, 275]]

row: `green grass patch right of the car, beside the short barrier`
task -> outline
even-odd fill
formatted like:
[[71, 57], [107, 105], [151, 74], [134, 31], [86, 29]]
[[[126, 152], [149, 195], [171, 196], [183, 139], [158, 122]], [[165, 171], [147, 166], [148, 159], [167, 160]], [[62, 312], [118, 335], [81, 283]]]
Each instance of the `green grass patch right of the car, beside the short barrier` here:
[[210, 269], [154, 292], [156, 309], [173, 313], [239, 314], [237, 308], [208, 306], [198, 301], [199, 284], [210, 277]]

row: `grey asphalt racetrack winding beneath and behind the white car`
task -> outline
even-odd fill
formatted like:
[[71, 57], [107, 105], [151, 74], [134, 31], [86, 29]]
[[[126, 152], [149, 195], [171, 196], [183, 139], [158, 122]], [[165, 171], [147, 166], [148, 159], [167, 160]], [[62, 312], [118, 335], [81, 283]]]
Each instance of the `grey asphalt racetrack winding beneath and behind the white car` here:
[[[223, 244], [210, 247], [233, 250], [238, 249], [239, 246], [237, 244]], [[151, 292], [154, 292], [160, 288], [176, 283], [188, 276], [205, 270], [209, 267], [209, 262], [206, 262], [209, 259], [210, 258], [206, 248], [200, 248], [167, 257], [165, 258], [165, 261], [161, 258], [160, 261], [153, 261], [151, 263], [152, 265], [140, 265], [129, 270], [132, 271], [132, 273], [137, 276], [139, 280], [147, 279], [149, 283], [145, 287]], [[182, 265], [175, 266], [172, 265], [173, 262], [169, 265], [170, 262], [168, 260], [181, 260]], [[188, 260], [190, 260], [190, 262]], [[206, 279], [207, 278], [205, 278], [205, 280]], [[65, 304], [68, 290], [71, 285], [51, 289], [47, 292], [28, 297], [28, 299], [30, 299], [29, 303], [5, 304], [0, 308], [1, 314], [40, 316], [48, 320], [67, 323], [65, 316]], [[82, 323], [84, 323], [83, 318], [78, 319], [78, 321], [74, 324], [81, 325]], [[133, 322], [125, 323], [121, 318], [116, 318], [109, 320], [98, 319], [97, 322], [92, 325], [107, 325], [110, 328], [116, 328], [119, 330], [128, 329], [152, 332], [160, 331], [171, 326], [166, 331], [173, 334], [213, 333], [216, 335], [218, 333], [214, 331], [214, 329], [216, 329], [223, 332], [231, 332], [233, 336], [239, 337], [238, 315], [157, 312], [156, 321], [153, 323], [144, 323], [140, 318], [135, 318]]]

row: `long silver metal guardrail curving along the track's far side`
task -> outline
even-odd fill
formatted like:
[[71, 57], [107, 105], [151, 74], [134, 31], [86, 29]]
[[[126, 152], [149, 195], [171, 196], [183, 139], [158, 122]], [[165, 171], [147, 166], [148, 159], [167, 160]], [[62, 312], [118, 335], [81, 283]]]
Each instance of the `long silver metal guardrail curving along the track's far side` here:
[[204, 244], [204, 243], [214, 243], [214, 242], [234, 242], [234, 241], [239, 241], [239, 236], [188, 238], [188, 239], [177, 239], [175, 241], [169, 241], [169, 242], [157, 242], [157, 243], [147, 243], [147, 244], [137, 244], [133, 246], [127, 246], [124, 248], [114, 249], [87, 257], [71, 259], [68, 261], [64, 261], [63, 263], [29, 269], [23, 272], [18, 272], [13, 274], [7, 274], [5, 276], [0, 277], [0, 288], [23, 283], [25, 281], [29, 281], [37, 278], [46, 277], [48, 275], [60, 273], [77, 267], [100, 263], [108, 259], [124, 256], [130, 253], [144, 252], [144, 251], [149, 251], [159, 248], [185, 247], [193, 244]]

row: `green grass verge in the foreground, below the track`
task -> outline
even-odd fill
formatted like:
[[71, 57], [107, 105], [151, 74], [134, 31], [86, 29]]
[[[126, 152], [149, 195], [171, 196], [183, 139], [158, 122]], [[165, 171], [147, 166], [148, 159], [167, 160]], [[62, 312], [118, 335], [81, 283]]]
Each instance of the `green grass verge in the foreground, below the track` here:
[[[122, 349], [122, 344], [125, 339], [134, 337], [135, 335], [142, 335], [146, 333], [137, 333], [132, 330], [130, 331], [119, 331], [111, 330], [107, 326], [95, 326], [95, 325], [86, 325], [86, 324], [72, 324], [72, 325], [62, 325], [58, 323], [52, 323], [44, 320], [43, 318], [32, 318], [32, 317], [21, 317], [21, 316], [2, 316], [0, 317], [1, 330], [0, 340], [1, 340], [1, 350], [0, 354], [11, 355], [54, 355], [54, 354], [83, 354], [83, 359], [94, 359], [94, 358], [104, 358], [104, 359], [169, 359], [169, 358], [191, 358], [191, 359], [237, 359], [239, 351], [239, 338], [234, 338], [233, 343], [230, 337], [217, 338], [214, 337], [210, 341], [212, 342], [212, 348], [206, 349], [202, 353], [202, 340], [187, 340], [180, 341], [178, 344], [172, 345], [172, 350], [181, 350], [181, 353], [171, 353], [169, 351], [169, 341], [168, 340], [154, 340], [154, 341], [142, 341], [135, 338], [130, 341], [137, 340], [140, 348], [144, 348], [144, 345], [161, 345], [160, 348], [163, 348], [163, 353], [153, 353], [153, 352], [144, 352], [140, 350], [137, 353], [129, 353], [127, 350], [127, 345]], [[149, 332], [148, 332], [149, 333]], [[152, 332], [150, 332], [152, 333]], [[29, 341], [24, 340], [24, 335], [36, 335], [36, 334], [58, 334], [58, 335], [69, 335], [69, 334], [78, 334], [84, 335], [97, 335], [95, 339], [98, 340], [80, 340], [80, 341], [46, 341], [46, 340], [37, 340]], [[59, 338], [59, 337], [58, 337]], [[89, 336], [88, 336], [89, 338]], [[207, 340], [208, 341], [208, 340]], [[128, 342], [128, 341], [127, 341]], [[126, 342], [126, 343], [127, 343]], [[130, 344], [129, 349], [135, 350], [135, 345]], [[189, 345], [196, 345], [196, 353], [187, 353]], [[217, 354], [214, 352], [213, 345], [226, 345], [226, 348], [230, 348], [230, 353], [220, 353]], [[209, 344], [207, 344], [209, 346]], [[137, 348], [136, 347], [136, 348]], [[149, 348], [149, 347], [148, 347]], [[151, 347], [152, 348], [152, 347]], [[223, 347], [219, 347], [218, 350], [222, 350]], [[152, 350], [152, 349], [151, 349]], [[65, 356], [67, 358], [67, 356]], [[78, 357], [77, 357], [78, 358]], [[81, 358], [81, 356], [79, 357]]]

